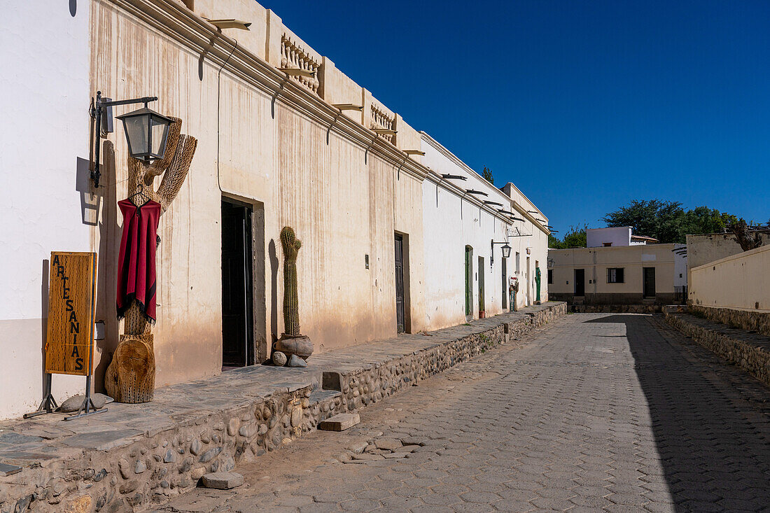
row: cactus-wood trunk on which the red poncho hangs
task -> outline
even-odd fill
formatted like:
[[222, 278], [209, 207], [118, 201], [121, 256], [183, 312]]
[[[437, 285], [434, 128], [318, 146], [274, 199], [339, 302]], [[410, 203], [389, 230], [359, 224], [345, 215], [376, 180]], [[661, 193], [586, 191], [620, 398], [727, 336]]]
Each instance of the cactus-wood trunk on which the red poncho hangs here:
[[[172, 118], [166, 153], [162, 159], [146, 164], [129, 156], [129, 194], [137, 189], [142, 195], [130, 196], [136, 206], [147, 199], [160, 203], [161, 214], [182, 188], [198, 140], [180, 134], [182, 120]], [[153, 182], [163, 175], [156, 191]], [[155, 388], [155, 354], [152, 340], [152, 324], [134, 301], [126, 311], [126, 320], [120, 336], [120, 343], [112, 355], [112, 362], [105, 373], [105, 388], [115, 401], [122, 403], [145, 403], [152, 401]]]

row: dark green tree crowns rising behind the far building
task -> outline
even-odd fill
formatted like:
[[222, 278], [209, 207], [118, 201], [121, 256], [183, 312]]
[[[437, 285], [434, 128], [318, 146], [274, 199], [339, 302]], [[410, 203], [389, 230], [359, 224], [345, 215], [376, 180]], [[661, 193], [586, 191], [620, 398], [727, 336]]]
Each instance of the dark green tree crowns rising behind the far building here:
[[634, 199], [602, 218], [607, 226], [631, 226], [635, 235], [651, 236], [661, 243], [684, 243], [688, 234], [721, 233], [737, 220], [708, 206], [685, 210], [679, 202], [660, 199]]

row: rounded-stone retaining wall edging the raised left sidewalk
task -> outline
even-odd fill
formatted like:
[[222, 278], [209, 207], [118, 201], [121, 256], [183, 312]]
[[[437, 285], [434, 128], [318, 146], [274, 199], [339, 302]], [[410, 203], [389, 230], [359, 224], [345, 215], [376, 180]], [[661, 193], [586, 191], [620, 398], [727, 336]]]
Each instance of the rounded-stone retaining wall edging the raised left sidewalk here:
[[[195, 487], [203, 474], [253, 461], [323, 419], [353, 411], [440, 373], [510, 337], [566, 313], [557, 303], [524, 319], [477, 321], [490, 329], [349, 373], [326, 372], [323, 387], [245, 399], [244, 404], [180, 416], [172, 430], [145, 432], [118, 447], [72, 449], [41, 458], [34, 468], [0, 477], [0, 513], [24, 511], [132, 511], [151, 508]], [[496, 322], [497, 321], [497, 322]], [[473, 331], [473, 330], [471, 330]], [[477, 329], [476, 329], [477, 331]]]

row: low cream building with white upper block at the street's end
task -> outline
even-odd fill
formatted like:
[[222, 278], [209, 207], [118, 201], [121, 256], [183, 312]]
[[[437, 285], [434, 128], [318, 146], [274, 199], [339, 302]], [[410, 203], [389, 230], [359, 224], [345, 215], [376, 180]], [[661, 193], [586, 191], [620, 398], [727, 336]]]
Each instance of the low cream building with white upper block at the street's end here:
[[548, 250], [552, 300], [585, 305], [660, 305], [686, 298], [684, 244], [660, 244], [631, 226], [586, 230], [588, 247]]

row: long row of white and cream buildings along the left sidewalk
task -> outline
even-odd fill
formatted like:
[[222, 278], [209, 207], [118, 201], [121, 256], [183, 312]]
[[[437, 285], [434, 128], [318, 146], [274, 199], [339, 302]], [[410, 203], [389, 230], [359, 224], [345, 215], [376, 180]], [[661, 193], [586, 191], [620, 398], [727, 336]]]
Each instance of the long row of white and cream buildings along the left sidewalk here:
[[[6, 15], [24, 31], [0, 36], [14, 70], [3, 103], [14, 121], [2, 133], [0, 418], [41, 400], [52, 251], [98, 256], [97, 391], [119, 341], [117, 202], [132, 191], [122, 123], [95, 133], [97, 91], [157, 96], [149, 106], [198, 139], [159, 221], [157, 387], [269, 357], [283, 332], [283, 226], [303, 243], [300, 320], [316, 354], [498, 314], [511, 308], [511, 278], [517, 307], [537, 301], [548, 234], [537, 206], [481, 179], [258, 3], [21, 2]], [[55, 397], [82, 393], [84, 380], [55, 375]]]

